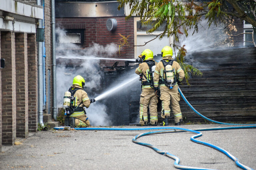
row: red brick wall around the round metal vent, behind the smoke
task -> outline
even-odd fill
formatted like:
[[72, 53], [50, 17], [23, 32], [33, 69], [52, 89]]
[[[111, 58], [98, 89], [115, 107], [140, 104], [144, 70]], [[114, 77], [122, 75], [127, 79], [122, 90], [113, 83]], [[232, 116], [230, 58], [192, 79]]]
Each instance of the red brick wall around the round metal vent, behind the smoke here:
[[[128, 38], [130, 44], [134, 44], [134, 29], [133, 18], [125, 20], [125, 17], [111, 17], [117, 20], [117, 29], [114, 32], [110, 32], [106, 28], [106, 22], [110, 17], [98, 17], [98, 18], [56, 18], [56, 27], [61, 29], [85, 29], [85, 47], [92, 45], [92, 43], [98, 43], [100, 45], [107, 45], [110, 43], [116, 43], [118, 46], [120, 35]], [[100, 49], [99, 49], [100, 50]], [[121, 58], [134, 58], [133, 47], [122, 47], [113, 56], [103, 55], [102, 57], [121, 57]], [[106, 60], [101, 61], [101, 65], [112, 65], [114, 61]], [[119, 62], [120, 64], [124, 64]]]

